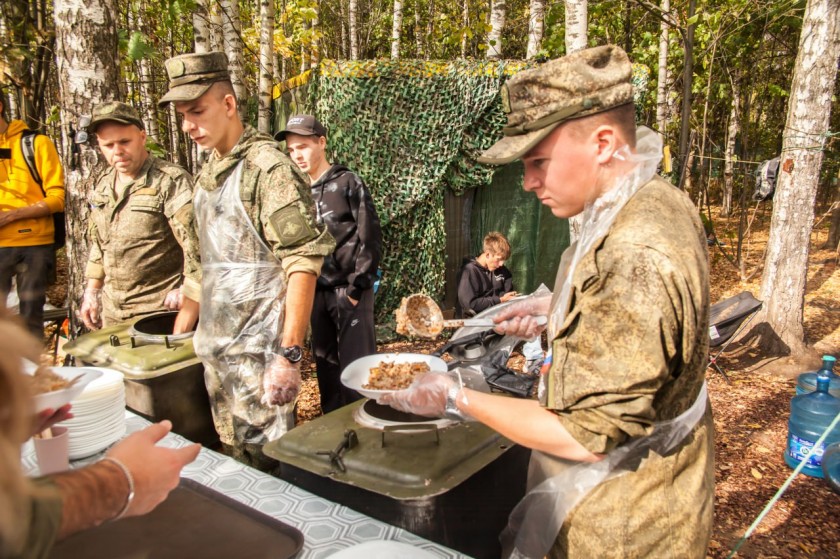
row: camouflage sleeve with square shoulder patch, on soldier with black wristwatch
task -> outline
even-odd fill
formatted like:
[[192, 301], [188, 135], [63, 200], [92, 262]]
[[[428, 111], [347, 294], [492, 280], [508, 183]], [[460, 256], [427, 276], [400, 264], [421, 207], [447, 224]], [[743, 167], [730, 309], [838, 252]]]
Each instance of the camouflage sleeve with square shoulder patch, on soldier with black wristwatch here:
[[277, 153], [281, 160], [261, 173], [256, 186], [256, 210], [264, 239], [281, 261], [292, 256], [332, 254], [335, 240], [315, 219], [308, 185], [292, 168], [292, 162]]

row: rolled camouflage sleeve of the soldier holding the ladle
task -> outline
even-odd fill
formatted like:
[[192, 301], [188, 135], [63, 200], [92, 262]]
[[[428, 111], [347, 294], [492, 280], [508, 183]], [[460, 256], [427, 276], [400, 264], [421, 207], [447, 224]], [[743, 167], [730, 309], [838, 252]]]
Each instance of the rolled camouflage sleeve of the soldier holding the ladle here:
[[680, 279], [653, 250], [615, 248], [598, 254], [606, 266], [575, 274], [573, 322], [552, 343], [546, 394], [546, 407], [595, 453], [650, 433], [655, 396], [680, 353], [679, 293], [668, 285]]

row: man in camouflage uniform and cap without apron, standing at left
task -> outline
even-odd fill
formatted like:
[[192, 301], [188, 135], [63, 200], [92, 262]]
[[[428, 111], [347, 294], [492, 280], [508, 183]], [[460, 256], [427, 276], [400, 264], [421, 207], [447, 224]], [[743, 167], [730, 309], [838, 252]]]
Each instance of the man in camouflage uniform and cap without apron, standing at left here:
[[192, 177], [146, 151], [143, 122], [125, 103], [94, 107], [87, 131], [111, 168], [90, 198], [82, 321], [95, 329], [180, 309], [174, 333], [192, 330], [201, 281]]

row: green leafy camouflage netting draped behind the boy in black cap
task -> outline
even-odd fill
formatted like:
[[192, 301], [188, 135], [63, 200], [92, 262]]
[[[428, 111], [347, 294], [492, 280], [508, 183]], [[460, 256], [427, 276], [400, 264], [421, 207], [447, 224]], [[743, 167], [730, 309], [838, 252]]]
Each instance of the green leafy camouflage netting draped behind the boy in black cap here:
[[444, 192], [487, 185], [475, 158], [501, 136], [503, 81], [522, 62], [324, 61], [276, 93], [275, 129], [310, 112], [329, 132], [332, 160], [364, 178], [383, 225], [379, 315], [400, 298], [444, 288]]

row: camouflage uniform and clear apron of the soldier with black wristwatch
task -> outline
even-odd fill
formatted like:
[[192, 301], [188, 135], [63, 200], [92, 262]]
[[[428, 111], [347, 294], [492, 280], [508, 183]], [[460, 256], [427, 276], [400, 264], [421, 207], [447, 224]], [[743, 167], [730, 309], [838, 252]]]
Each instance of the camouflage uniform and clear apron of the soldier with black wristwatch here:
[[[196, 353], [222, 442], [265, 469], [258, 448], [293, 426], [281, 408], [260, 401], [267, 355], [279, 350], [285, 279], [293, 271], [317, 275], [335, 242], [315, 220], [300, 171], [251, 127], [228, 155], [211, 156], [196, 185], [206, 268]], [[237, 186], [244, 220], [216, 197]]]

